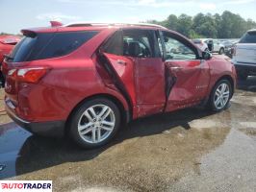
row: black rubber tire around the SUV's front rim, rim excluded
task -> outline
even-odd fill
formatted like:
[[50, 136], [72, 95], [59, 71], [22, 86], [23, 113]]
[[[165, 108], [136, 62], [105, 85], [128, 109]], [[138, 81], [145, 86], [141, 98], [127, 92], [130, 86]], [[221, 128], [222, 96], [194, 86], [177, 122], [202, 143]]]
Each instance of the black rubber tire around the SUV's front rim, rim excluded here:
[[[220, 84], [227, 84], [228, 87], [229, 87], [229, 92], [230, 92], [230, 95], [229, 95], [229, 98], [228, 98], [228, 101], [226, 103], [226, 105], [224, 106], [224, 108], [216, 108], [215, 106], [215, 94], [216, 94], [216, 91], [217, 91], [217, 88]], [[229, 105], [229, 101], [232, 97], [232, 93], [233, 93], [233, 89], [232, 89], [232, 86], [230, 84], [230, 82], [228, 80], [220, 80], [213, 88], [212, 92], [211, 92], [211, 96], [210, 96], [210, 100], [209, 100], [209, 106], [212, 110], [214, 111], [221, 111], [225, 108], [227, 108], [227, 106]]]

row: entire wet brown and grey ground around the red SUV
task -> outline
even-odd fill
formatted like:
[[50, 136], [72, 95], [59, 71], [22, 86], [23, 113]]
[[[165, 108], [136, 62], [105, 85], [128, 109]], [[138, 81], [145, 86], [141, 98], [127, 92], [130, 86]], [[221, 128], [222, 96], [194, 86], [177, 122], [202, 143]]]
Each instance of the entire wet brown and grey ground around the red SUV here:
[[97, 150], [32, 135], [4, 112], [0, 122], [0, 179], [53, 180], [54, 191], [256, 190], [256, 78], [225, 111], [139, 119]]

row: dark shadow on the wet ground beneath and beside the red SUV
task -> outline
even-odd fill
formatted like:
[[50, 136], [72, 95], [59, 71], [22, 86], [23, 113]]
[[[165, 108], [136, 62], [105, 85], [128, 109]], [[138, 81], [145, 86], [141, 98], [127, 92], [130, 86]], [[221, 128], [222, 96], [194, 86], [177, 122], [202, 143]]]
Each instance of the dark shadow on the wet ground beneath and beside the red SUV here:
[[[0, 139], [0, 145], [8, 139], [5, 139], [7, 133], [13, 134], [13, 137], [9, 135], [9, 139], [12, 140], [10, 143], [15, 141], [14, 143], [20, 144], [15, 144], [14, 147], [12, 145], [2, 145], [2, 151], [4, 151], [4, 153], [0, 153], [0, 157], [9, 157], [7, 157], [5, 162], [1, 162], [0, 159], [0, 165], [1, 163], [2, 165], [3, 163], [9, 165], [3, 165], [5, 166], [5, 170], [2, 173], [0, 171], [0, 179], [38, 171], [60, 165], [64, 162], [87, 161], [126, 139], [160, 134], [177, 126], [189, 130], [189, 122], [213, 114], [213, 112], [202, 108], [186, 108], [171, 113], [141, 118], [123, 126], [120, 131], [117, 132], [117, 135], [111, 143], [93, 150], [83, 150], [66, 137], [63, 139], [38, 137], [24, 131], [14, 123], [2, 125], [0, 126], [0, 131], [2, 130], [2, 132], [0, 132], [0, 138], [2, 138], [2, 140]], [[6, 127], [8, 127], [8, 129]], [[22, 134], [23, 137], [20, 134]], [[12, 146], [12, 149], [7, 149], [10, 146]], [[5, 149], [3, 149], [3, 147], [5, 147]], [[13, 156], [10, 156], [10, 154]], [[13, 161], [13, 163], [9, 163], [9, 161]]]

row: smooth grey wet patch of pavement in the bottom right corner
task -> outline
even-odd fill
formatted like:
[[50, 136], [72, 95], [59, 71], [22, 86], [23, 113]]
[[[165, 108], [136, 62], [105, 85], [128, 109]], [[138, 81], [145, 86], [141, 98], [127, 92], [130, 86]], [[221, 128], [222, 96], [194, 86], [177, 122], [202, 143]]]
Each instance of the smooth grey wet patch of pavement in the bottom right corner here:
[[191, 172], [172, 185], [169, 191], [254, 191], [255, 159], [255, 140], [232, 129], [222, 145], [202, 157], [199, 174]]

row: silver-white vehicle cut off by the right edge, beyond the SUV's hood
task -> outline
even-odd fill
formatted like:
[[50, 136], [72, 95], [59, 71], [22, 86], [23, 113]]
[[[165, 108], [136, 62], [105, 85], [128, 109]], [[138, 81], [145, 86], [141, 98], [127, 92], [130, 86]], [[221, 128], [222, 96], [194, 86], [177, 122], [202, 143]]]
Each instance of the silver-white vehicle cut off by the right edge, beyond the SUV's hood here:
[[242, 36], [236, 45], [232, 61], [241, 80], [246, 80], [249, 75], [256, 75], [256, 30], [250, 30]]

